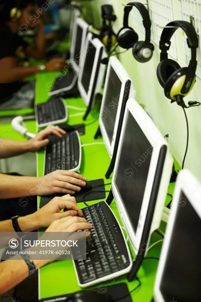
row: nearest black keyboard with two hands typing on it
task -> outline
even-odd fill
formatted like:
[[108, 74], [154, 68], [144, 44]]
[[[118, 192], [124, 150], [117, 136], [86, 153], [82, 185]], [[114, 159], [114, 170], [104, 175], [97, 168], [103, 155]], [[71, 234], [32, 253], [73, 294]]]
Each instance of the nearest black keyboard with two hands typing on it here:
[[93, 229], [86, 239], [86, 260], [74, 260], [79, 285], [87, 287], [114, 278], [112, 274], [127, 273], [131, 257], [111, 209], [105, 201], [101, 201], [82, 210], [84, 217], [93, 224]]

